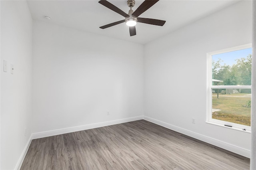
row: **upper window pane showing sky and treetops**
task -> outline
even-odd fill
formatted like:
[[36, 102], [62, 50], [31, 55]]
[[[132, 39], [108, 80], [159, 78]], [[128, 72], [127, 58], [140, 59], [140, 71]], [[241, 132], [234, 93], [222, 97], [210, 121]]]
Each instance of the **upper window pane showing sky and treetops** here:
[[252, 48], [212, 55], [212, 85], [251, 85]]

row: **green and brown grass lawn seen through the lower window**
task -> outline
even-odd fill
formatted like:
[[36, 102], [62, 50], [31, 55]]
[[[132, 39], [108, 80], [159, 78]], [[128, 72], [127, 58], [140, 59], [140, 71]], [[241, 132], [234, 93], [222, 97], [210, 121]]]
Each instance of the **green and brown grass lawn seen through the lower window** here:
[[212, 108], [220, 109], [220, 111], [212, 113], [212, 118], [250, 126], [251, 108], [244, 107], [244, 105], [251, 100], [251, 97], [246, 95], [246, 93], [219, 94], [217, 99], [217, 95], [212, 94]]

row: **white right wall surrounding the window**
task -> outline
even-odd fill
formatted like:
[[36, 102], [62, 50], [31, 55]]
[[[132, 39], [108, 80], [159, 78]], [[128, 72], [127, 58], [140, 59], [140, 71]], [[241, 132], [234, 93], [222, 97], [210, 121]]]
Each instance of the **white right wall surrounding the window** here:
[[206, 53], [251, 43], [251, 8], [238, 2], [145, 45], [146, 117], [250, 150], [250, 133], [206, 123]]

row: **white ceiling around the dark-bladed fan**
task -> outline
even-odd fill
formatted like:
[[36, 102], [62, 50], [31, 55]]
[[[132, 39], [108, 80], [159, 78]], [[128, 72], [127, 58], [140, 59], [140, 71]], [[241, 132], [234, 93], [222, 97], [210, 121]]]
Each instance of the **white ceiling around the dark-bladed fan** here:
[[[128, 13], [127, 0], [108, 1]], [[135, 11], [142, 2], [136, 0], [132, 9]], [[104, 30], [99, 28], [124, 17], [99, 4], [98, 0], [28, 0], [28, 7], [34, 20], [145, 44], [236, 2], [238, 0], [160, 0], [140, 17], [166, 20], [164, 26], [138, 23], [137, 35], [132, 37], [125, 23]], [[52, 19], [46, 20], [45, 15]]]

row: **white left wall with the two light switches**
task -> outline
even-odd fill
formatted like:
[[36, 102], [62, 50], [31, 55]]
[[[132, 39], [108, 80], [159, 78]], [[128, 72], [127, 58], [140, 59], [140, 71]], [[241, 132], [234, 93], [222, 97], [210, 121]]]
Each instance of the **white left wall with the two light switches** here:
[[[1, 170], [14, 169], [31, 135], [32, 18], [26, 1], [1, 1]], [[3, 60], [8, 71], [3, 72]], [[14, 74], [10, 64], [14, 64]], [[25, 134], [26, 128], [26, 136]]]

